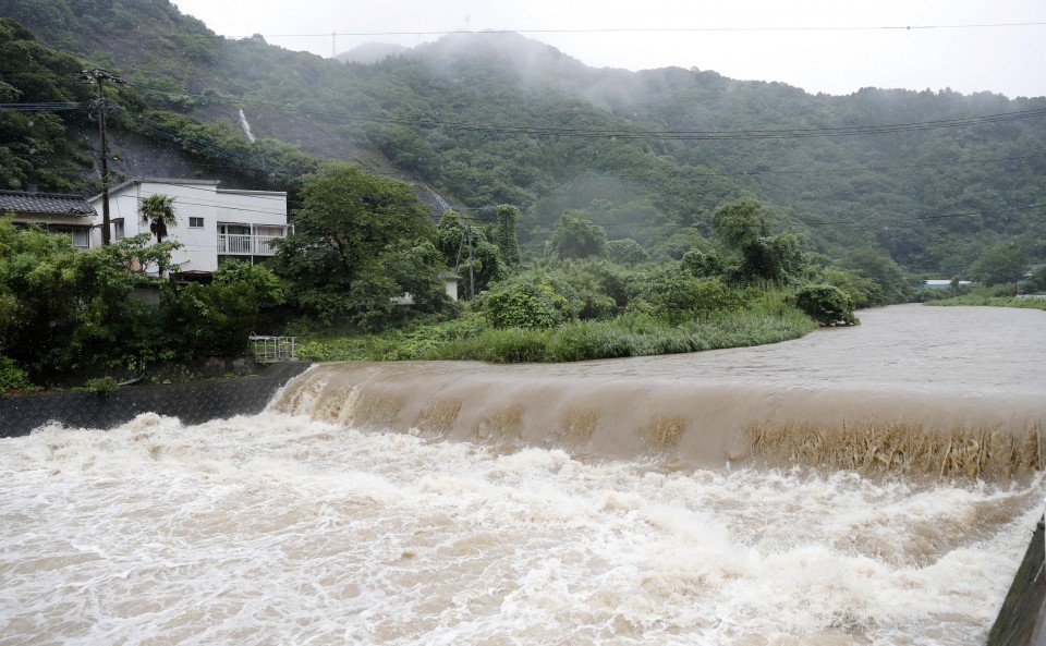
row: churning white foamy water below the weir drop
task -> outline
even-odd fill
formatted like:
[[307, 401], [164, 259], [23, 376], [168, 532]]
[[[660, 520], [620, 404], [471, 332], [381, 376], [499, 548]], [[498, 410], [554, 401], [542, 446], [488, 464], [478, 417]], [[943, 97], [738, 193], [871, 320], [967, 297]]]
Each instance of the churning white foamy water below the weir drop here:
[[0, 644], [981, 644], [1043, 483], [265, 413], [0, 440]]

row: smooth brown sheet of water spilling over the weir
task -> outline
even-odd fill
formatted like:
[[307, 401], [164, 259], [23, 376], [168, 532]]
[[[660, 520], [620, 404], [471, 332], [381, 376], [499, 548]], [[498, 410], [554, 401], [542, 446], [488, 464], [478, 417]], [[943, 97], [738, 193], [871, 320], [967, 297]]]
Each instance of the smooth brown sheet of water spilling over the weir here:
[[464, 362], [319, 364], [276, 412], [671, 467], [804, 465], [989, 480], [1044, 464], [1044, 410], [1026, 398], [572, 376]]

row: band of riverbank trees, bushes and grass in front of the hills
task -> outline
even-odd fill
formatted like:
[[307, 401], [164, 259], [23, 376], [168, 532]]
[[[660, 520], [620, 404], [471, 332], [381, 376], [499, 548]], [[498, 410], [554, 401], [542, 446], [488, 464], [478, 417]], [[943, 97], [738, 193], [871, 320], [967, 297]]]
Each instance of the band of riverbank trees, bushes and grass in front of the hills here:
[[[608, 240], [570, 209], [545, 255], [524, 258], [516, 208], [502, 205], [488, 227], [452, 210], [434, 223], [406, 184], [346, 164], [321, 168], [301, 195], [299, 227], [267, 266], [229, 263], [209, 283], [148, 272], [177, 242], [144, 235], [78, 252], [0, 222], [0, 388], [243, 353], [258, 330], [300, 336], [301, 357], [314, 361], [696, 352], [854, 325], [855, 303], [908, 289], [804, 252], [751, 198], [718, 208], [717, 240], [677, 260]], [[903, 281], [888, 258], [858, 259]], [[448, 297], [447, 276], [464, 300]]]

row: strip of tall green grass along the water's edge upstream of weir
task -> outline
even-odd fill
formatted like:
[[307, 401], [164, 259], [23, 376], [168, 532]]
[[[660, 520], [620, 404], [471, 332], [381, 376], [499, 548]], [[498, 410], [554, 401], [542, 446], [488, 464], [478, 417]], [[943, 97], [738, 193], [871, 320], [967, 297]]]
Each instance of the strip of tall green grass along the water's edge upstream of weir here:
[[798, 309], [768, 302], [679, 326], [643, 314], [625, 314], [609, 321], [573, 321], [551, 329], [495, 329], [479, 318], [466, 318], [381, 337], [307, 340], [297, 354], [308, 361], [560, 363], [777, 343], [816, 327]]

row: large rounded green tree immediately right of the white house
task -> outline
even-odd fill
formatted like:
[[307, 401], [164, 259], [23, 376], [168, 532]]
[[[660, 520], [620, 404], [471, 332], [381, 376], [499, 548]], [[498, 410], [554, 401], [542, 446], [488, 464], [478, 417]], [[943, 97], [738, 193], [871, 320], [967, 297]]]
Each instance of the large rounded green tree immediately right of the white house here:
[[[428, 207], [409, 184], [346, 163], [327, 164], [306, 178], [301, 198], [294, 233], [278, 242], [273, 263], [292, 284], [291, 302], [328, 322], [346, 318], [376, 327], [389, 321], [391, 300], [409, 290], [386, 268], [434, 241]], [[438, 289], [438, 281], [427, 284]]]

